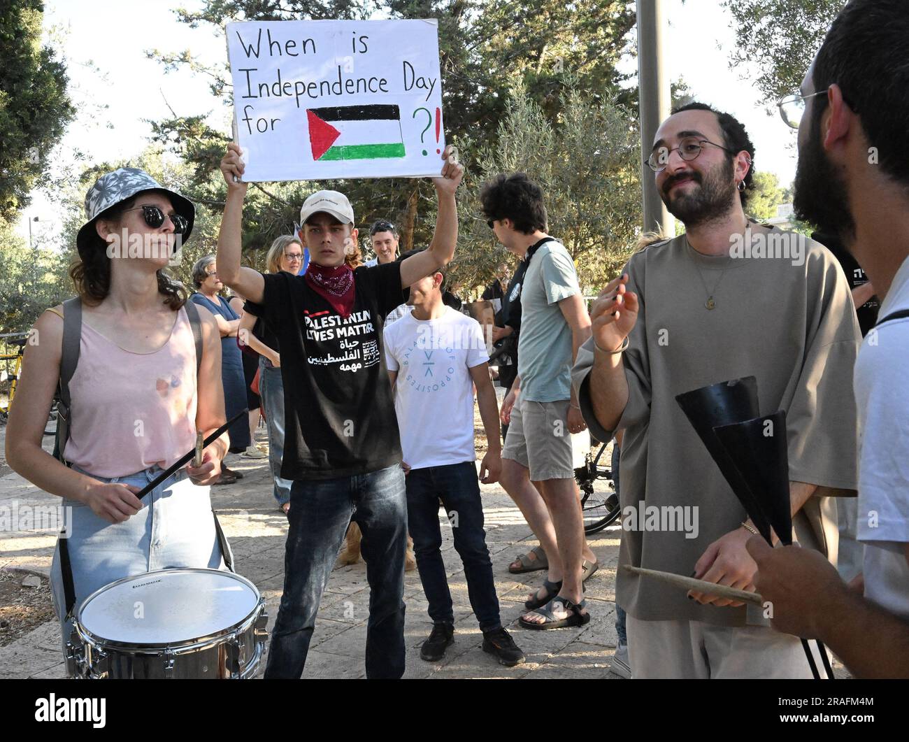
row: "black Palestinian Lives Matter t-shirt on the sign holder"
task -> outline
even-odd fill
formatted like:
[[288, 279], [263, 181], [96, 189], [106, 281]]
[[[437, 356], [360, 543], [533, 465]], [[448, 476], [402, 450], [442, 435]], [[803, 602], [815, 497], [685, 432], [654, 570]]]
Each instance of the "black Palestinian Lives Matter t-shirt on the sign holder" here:
[[401, 304], [401, 264], [356, 268], [354, 310], [346, 319], [304, 276], [263, 277], [262, 316], [278, 337], [285, 391], [281, 476], [332, 479], [399, 463], [382, 329]]

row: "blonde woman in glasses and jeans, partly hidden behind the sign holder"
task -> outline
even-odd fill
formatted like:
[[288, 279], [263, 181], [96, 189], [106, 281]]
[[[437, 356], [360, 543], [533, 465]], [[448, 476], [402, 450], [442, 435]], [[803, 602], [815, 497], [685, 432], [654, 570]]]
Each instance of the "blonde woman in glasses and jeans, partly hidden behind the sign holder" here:
[[[265, 257], [269, 273], [297, 274], [303, 266], [303, 244], [295, 235], [275, 238]], [[240, 317], [240, 342], [250, 346], [259, 354], [259, 396], [265, 410], [265, 426], [268, 430], [268, 459], [275, 482], [275, 500], [285, 513], [290, 509], [290, 486], [292, 482], [281, 476], [281, 461], [284, 457], [285, 408], [284, 382], [281, 379], [281, 354], [275, 333], [261, 319], [262, 308], [247, 301]]]

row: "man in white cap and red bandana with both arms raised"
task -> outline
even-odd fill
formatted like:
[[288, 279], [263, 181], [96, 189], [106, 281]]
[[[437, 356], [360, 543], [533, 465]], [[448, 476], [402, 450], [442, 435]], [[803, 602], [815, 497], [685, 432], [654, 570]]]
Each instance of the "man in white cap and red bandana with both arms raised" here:
[[401, 677], [405, 668], [404, 567], [407, 505], [395, 405], [382, 354], [385, 316], [401, 291], [447, 265], [457, 242], [454, 192], [464, 167], [449, 148], [433, 178], [438, 197], [429, 248], [383, 266], [345, 265], [357, 231], [346, 196], [319, 191], [300, 212], [310, 265], [304, 276], [263, 275], [240, 266], [247, 184], [240, 147], [227, 145], [227, 182], [218, 236], [218, 273], [262, 305], [281, 346], [285, 381], [285, 454], [293, 479], [285, 587], [265, 677], [300, 677], [315, 615], [335, 555], [353, 520], [363, 531], [370, 587], [366, 676]]

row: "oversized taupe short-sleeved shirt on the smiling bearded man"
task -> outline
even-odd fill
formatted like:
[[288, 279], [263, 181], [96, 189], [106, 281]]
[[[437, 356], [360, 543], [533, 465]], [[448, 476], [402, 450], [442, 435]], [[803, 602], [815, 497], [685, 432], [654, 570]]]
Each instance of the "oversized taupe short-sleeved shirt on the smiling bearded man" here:
[[[773, 233], [783, 234], [776, 228]], [[624, 352], [628, 403], [616, 429], [625, 431], [623, 513], [634, 506], [639, 522], [636, 530], [622, 533], [620, 565], [690, 576], [707, 546], [747, 517], [675, 402], [676, 395], [701, 386], [755, 376], [761, 415], [786, 411], [789, 479], [834, 490], [856, 488], [852, 373], [861, 334], [833, 254], [802, 239], [801, 265], [784, 257], [704, 256], [682, 235], [646, 247], [625, 267], [627, 289], [639, 297], [640, 313]], [[713, 310], [704, 306], [710, 295]], [[573, 383], [591, 434], [609, 440], [614, 431], [597, 422], [591, 403], [593, 350], [591, 338], [578, 352]], [[645, 511], [687, 506], [697, 536], [686, 537], [678, 526], [647, 528], [642, 501]], [[693, 534], [688, 528], [687, 535]], [[813, 496], [794, 516], [794, 535], [802, 546], [819, 548], [835, 561], [832, 499]], [[745, 607], [702, 606], [683, 589], [621, 567], [616, 601], [642, 620], [762, 622], [759, 609], [749, 608], [746, 619]]]

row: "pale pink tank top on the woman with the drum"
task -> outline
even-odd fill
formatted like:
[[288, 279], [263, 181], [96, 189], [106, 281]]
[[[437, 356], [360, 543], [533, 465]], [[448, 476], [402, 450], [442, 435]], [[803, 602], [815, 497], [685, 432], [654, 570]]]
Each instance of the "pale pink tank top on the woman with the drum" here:
[[166, 468], [195, 446], [195, 341], [181, 308], [165, 345], [133, 353], [82, 323], [67, 461], [95, 476]]

